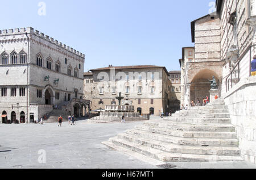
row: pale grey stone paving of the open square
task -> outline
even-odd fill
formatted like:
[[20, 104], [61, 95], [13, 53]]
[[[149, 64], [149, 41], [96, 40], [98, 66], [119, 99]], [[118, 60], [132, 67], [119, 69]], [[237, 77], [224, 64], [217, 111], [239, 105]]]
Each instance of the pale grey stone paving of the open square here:
[[[65, 122], [62, 127], [56, 123], [0, 124], [0, 168], [157, 168], [101, 144], [138, 124], [142, 122], [90, 124], [81, 120], [76, 125]], [[44, 152], [46, 163], [40, 164]], [[256, 168], [245, 162], [175, 165], [177, 168]]]

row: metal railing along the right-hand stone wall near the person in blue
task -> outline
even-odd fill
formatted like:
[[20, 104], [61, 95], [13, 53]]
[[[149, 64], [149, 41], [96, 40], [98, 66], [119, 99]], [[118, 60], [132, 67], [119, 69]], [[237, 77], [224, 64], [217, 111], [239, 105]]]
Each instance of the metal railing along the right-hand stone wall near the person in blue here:
[[237, 64], [226, 77], [226, 92], [231, 90], [241, 79], [251, 76], [251, 48], [255, 45], [250, 45], [246, 51], [238, 58]]

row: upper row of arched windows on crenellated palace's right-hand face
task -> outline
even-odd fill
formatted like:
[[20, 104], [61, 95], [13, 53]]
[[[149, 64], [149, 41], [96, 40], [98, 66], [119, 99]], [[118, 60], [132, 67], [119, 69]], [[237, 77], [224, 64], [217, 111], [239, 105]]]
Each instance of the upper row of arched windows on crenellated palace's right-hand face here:
[[[65, 64], [67, 62], [67, 58], [65, 58]], [[42, 55], [37, 55], [36, 56], [36, 65], [42, 67], [43, 66], [43, 56]], [[46, 62], [46, 68], [49, 70], [52, 70], [52, 59], [48, 58]], [[81, 69], [81, 64], [79, 64], [79, 69]], [[60, 73], [60, 61], [55, 62], [55, 71]], [[67, 70], [68, 76], [72, 76], [72, 66], [68, 66]], [[74, 69], [74, 77], [79, 77], [79, 70], [77, 68]]]

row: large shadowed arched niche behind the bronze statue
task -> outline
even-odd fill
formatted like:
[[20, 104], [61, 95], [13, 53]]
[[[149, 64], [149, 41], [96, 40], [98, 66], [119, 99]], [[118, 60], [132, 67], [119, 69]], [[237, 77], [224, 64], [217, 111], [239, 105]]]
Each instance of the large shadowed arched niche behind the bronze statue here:
[[213, 72], [210, 69], [204, 69], [201, 70], [199, 73], [196, 74], [195, 77], [193, 77], [193, 80], [191, 82], [190, 86], [190, 101], [194, 103], [197, 102], [197, 99], [200, 100], [200, 102], [203, 102], [203, 99], [208, 96], [210, 98], [210, 81], [212, 78], [216, 78], [217, 86], [220, 85], [220, 79], [217, 76], [215, 72]]

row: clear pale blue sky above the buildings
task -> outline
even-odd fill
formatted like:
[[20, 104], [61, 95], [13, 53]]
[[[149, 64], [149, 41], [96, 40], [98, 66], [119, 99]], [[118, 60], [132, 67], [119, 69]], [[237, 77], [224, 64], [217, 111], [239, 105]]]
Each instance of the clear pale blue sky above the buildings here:
[[193, 46], [190, 23], [209, 14], [215, 0], [0, 2], [0, 30], [33, 27], [84, 53], [86, 72], [110, 64], [180, 70], [181, 48]]

